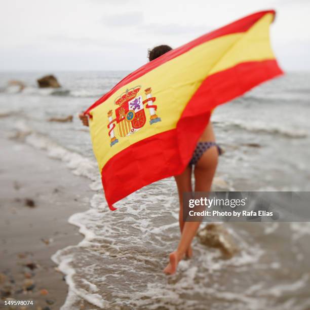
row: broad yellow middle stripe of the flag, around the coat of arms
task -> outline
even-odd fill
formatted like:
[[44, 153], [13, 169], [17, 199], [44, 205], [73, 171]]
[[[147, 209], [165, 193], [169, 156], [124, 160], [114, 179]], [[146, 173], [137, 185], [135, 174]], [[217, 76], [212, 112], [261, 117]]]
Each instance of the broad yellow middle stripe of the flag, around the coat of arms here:
[[[272, 13], [265, 14], [246, 32], [223, 35], [192, 48], [128, 83], [103, 104], [92, 109], [90, 114], [93, 119], [90, 122], [90, 129], [99, 171], [101, 172], [110, 158], [131, 144], [176, 128], [187, 102], [207, 76], [242, 62], [274, 59], [275, 56], [269, 44], [268, 29], [273, 17]], [[149, 124], [149, 111], [144, 104], [147, 121], [143, 130], [119, 139], [119, 142], [111, 147], [107, 113], [112, 110], [114, 119], [115, 108], [118, 107], [114, 104], [115, 98], [126, 89], [136, 86], [141, 86], [137, 97], [142, 95], [143, 100], [146, 98], [144, 90], [151, 87], [152, 96], [156, 97], [154, 104], [158, 106], [156, 114], [161, 118], [161, 122], [156, 123], [156, 126]], [[120, 124], [118, 128], [120, 129]]]

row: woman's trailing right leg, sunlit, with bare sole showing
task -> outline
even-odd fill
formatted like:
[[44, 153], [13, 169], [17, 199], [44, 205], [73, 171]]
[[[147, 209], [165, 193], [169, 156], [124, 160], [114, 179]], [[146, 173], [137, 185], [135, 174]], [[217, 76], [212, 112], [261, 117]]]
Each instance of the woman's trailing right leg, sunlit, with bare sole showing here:
[[[207, 141], [214, 141], [211, 123], [206, 128], [204, 138], [206, 138]], [[217, 166], [217, 160], [218, 151], [215, 146], [211, 147], [203, 154], [194, 170], [195, 191], [210, 191], [212, 179]], [[186, 250], [189, 248], [193, 237], [196, 235], [199, 225], [200, 222], [184, 223], [178, 248], [169, 255], [170, 263], [164, 269], [166, 274], [174, 274], [176, 272], [178, 262], [183, 258]]]

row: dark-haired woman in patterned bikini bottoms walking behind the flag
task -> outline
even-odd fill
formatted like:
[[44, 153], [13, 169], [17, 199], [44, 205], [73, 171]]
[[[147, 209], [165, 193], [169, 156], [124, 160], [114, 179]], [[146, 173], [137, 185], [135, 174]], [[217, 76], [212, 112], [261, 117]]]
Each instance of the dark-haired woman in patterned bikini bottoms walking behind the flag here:
[[[157, 46], [148, 51], [148, 59], [149, 61], [152, 61], [170, 50], [172, 50], [172, 48], [167, 45]], [[88, 118], [83, 114], [80, 114], [79, 116], [83, 125], [88, 126]], [[180, 200], [179, 225], [181, 238], [177, 249], [169, 255], [170, 262], [164, 269], [166, 274], [174, 274], [179, 261], [184, 256], [187, 256], [188, 258], [192, 256], [191, 242], [200, 225], [200, 222], [183, 221], [183, 192], [192, 191], [193, 189], [191, 186], [191, 173], [193, 171], [195, 175], [195, 191], [210, 191], [217, 166], [219, 151], [220, 149], [215, 143], [212, 124], [209, 122], [197, 143], [197, 147], [188, 166], [180, 175], [174, 177], [177, 183]]]

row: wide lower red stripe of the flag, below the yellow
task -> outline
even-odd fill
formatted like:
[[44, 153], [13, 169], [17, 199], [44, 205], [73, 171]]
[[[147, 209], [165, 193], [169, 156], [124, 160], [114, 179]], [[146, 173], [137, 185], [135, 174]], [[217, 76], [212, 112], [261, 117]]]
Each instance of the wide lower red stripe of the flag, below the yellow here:
[[276, 60], [265, 60], [241, 63], [209, 76], [189, 100], [176, 129], [132, 144], [105, 164], [102, 184], [111, 210], [113, 203], [137, 189], [180, 174], [214, 107], [282, 73]]

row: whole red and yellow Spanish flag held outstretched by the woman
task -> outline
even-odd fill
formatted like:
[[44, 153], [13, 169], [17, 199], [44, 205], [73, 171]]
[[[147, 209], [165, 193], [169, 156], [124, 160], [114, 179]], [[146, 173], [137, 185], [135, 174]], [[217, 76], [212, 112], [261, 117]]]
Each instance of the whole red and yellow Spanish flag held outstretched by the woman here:
[[275, 11], [207, 33], [130, 73], [85, 114], [105, 198], [113, 203], [188, 165], [211, 110], [282, 74]]

